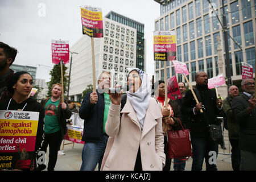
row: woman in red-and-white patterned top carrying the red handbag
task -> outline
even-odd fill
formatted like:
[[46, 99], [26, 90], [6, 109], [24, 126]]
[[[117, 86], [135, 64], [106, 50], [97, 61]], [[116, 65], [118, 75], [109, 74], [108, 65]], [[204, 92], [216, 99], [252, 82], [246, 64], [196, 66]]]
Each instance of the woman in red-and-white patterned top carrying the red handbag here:
[[[181, 129], [179, 121], [177, 121], [177, 118], [180, 119], [180, 107], [174, 100], [170, 100], [168, 98], [168, 109], [165, 109], [165, 103], [164, 103], [164, 81], [159, 80], [152, 85], [152, 89], [154, 89], [154, 97], [156, 100], [159, 101], [161, 110], [162, 110], [162, 127], [163, 127], [163, 135], [164, 135], [164, 153], [167, 156], [167, 137], [166, 133], [169, 130], [175, 129], [179, 130]], [[171, 169], [171, 159], [166, 158], [166, 166], [164, 166], [163, 171], [170, 171]]]

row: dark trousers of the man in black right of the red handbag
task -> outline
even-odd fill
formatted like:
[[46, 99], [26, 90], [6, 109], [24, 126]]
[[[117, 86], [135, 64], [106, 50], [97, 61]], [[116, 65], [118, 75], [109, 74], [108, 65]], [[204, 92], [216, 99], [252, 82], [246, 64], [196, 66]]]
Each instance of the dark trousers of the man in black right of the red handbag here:
[[[193, 162], [192, 171], [201, 171], [203, 167], [203, 162], [205, 159], [207, 171], [217, 171], [216, 164], [209, 164], [209, 158], [212, 159], [213, 154], [209, 154], [210, 151], [216, 152], [216, 163], [218, 155], [218, 143], [209, 141], [206, 138], [191, 138], [192, 152], [193, 152]], [[212, 160], [210, 160], [212, 161]]]

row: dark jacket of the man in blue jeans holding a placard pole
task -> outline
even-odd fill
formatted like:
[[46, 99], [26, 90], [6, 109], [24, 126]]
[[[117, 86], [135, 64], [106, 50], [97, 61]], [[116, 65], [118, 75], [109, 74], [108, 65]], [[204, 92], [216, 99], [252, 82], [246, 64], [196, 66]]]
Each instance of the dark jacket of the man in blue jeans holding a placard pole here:
[[79, 109], [79, 116], [84, 119], [84, 134], [82, 141], [98, 142], [104, 135], [103, 119], [104, 119], [104, 94], [98, 93], [97, 104], [90, 104], [90, 93], [85, 95], [82, 105]]

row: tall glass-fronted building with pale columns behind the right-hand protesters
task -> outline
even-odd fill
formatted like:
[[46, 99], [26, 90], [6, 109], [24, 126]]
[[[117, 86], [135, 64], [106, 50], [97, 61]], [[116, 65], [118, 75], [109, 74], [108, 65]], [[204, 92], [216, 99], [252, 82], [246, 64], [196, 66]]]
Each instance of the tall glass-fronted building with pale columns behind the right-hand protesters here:
[[[177, 35], [177, 60], [187, 64], [189, 81], [195, 85], [194, 75], [204, 71], [209, 78], [218, 75], [217, 38], [221, 40], [222, 60], [225, 61], [225, 42], [221, 23], [222, 0], [154, 0], [160, 4], [160, 16], [155, 19], [155, 31], [160, 30], [160, 19], [169, 16], [163, 30]], [[225, 0], [224, 10], [228, 26], [229, 59], [233, 84], [239, 83], [241, 62], [255, 68], [256, 0]], [[213, 9], [211, 8], [213, 7]], [[221, 23], [218, 21], [218, 18]], [[236, 43], [234, 42], [236, 41]], [[237, 45], [238, 44], [238, 45]], [[155, 72], [162, 68], [155, 61]], [[225, 63], [224, 63], [225, 64]], [[226, 64], [225, 64], [226, 65]], [[171, 63], [170, 68], [173, 67]], [[168, 67], [167, 67], [168, 68]], [[255, 70], [254, 70], [255, 73]], [[226, 71], [224, 70], [224, 76]], [[172, 69], [170, 69], [170, 75]], [[160, 76], [159, 76], [160, 77]], [[185, 81], [177, 75], [178, 81]], [[156, 79], [158, 79], [156, 75]]]

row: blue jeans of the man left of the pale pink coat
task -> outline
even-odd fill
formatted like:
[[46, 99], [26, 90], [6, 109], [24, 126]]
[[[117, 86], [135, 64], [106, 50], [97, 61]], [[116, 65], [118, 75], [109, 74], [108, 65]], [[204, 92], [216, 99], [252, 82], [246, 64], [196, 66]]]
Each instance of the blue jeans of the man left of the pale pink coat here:
[[99, 142], [85, 142], [82, 148], [82, 165], [80, 171], [94, 171], [98, 164], [98, 171], [101, 169], [101, 162], [104, 156], [108, 137], [102, 136]]

